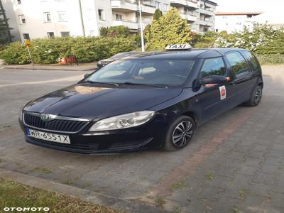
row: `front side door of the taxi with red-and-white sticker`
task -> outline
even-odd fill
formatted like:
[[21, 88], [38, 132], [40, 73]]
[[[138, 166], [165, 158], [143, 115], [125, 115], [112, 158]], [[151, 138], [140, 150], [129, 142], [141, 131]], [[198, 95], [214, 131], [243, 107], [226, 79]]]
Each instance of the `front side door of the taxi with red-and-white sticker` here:
[[[226, 65], [222, 57], [204, 59], [200, 77], [210, 75], [227, 76]], [[198, 106], [200, 107], [200, 124], [222, 114], [229, 109], [226, 103], [226, 91], [229, 82], [225, 84], [204, 84], [198, 90]]]

